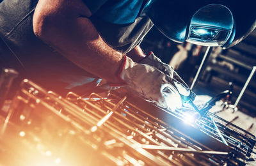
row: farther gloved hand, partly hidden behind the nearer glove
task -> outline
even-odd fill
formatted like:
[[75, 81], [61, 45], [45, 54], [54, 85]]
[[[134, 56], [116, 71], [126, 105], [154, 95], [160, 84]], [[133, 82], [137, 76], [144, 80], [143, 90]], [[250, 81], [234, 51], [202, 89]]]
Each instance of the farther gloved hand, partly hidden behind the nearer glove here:
[[179, 91], [180, 97], [182, 99], [182, 103], [187, 102], [188, 100], [195, 100], [196, 94], [191, 91], [188, 85], [180, 78], [180, 76], [173, 70], [172, 66], [163, 63], [158, 57], [154, 55], [153, 52], [142, 59], [140, 64], [148, 64], [150, 66], [154, 66], [161, 72], [163, 72], [166, 76], [171, 77], [173, 79], [173, 83], [175, 87]]

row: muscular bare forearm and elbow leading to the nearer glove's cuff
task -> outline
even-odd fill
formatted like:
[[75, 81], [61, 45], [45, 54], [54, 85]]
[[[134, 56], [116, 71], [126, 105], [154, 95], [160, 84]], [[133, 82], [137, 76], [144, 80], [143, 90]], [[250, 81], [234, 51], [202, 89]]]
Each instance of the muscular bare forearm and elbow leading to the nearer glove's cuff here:
[[88, 19], [91, 12], [81, 0], [39, 0], [33, 17], [33, 30], [87, 72], [109, 82], [120, 82], [116, 73], [122, 54], [100, 38]]

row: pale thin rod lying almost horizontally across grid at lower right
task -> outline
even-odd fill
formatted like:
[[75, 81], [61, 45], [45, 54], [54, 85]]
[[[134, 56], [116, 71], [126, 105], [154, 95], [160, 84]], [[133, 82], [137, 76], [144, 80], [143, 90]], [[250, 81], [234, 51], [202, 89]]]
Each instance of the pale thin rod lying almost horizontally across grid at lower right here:
[[228, 155], [228, 152], [223, 152], [223, 151], [196, 151], [196, 150], [193, 150], [193, 149], [182, 148], [182, 147], [156, 146], [156, 145], [147, 145], [147, 144], [139, 144], [138, 147], [141, 147], [143, 149], [175, 151], [175, 152], [179, 152], [179, 153], [200, 153], [200, 154], [208, 154], [208, 155]]

